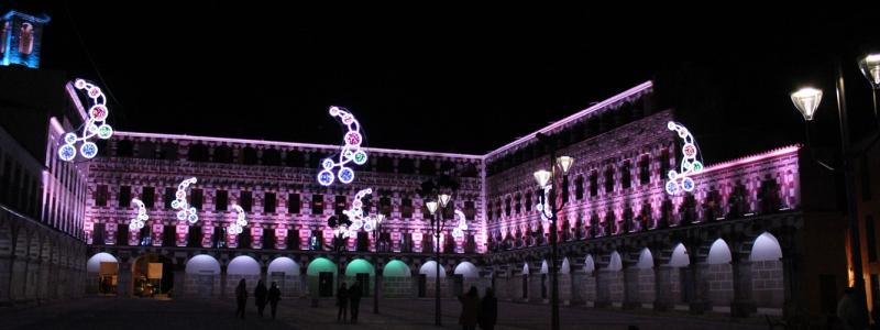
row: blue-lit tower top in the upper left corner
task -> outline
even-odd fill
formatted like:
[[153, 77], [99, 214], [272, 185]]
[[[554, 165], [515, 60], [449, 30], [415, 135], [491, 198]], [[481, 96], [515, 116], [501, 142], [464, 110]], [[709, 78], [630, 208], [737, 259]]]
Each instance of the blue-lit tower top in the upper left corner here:
[[38, 68], [43, 25], [50, 20], [14, 10], [0, 16], [0, 65]]

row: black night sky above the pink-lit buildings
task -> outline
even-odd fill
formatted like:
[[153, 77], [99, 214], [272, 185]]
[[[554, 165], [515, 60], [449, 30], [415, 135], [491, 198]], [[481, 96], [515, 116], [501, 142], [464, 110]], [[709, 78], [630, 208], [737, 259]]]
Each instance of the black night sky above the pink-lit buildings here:
[[865, 8], [188, 2], [0, 0], [0, 9], [53, 18], [42, 67], [103, 85], [120, 130], [337, 144], [327, 107], [339, 105], [361, 119], [371, 146], [475, 154], [684, 67], [722, 89], [724, 107], [704, 118], [729, 131], [702, 132], [704, 148], [730, 134], [759, 147], [796, 142], [790, 90], [824, 87], [820, 116], [833, 123], [829, 58], [849, 56], [848, 87], [867, 92], [854, 54], [880, 35]]

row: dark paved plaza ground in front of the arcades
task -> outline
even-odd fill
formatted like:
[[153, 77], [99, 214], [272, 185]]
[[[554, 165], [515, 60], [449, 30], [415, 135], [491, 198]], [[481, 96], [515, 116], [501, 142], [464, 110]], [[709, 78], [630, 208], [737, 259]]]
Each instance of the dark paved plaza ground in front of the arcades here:
[[[277, 320], [256, 316], [249, 300], [245, 320], [233, 318], [231, 301], [146, 300], [87, 298], [42, 307], [0, 309], [0, 329], [438, 329], [433, 326], [433, 300], [383, 300], [382, 314], [374, 315], [372, 300], [364, 300], [361, 321], [338, 323], [332, 301], [310, 307], [308, 300], [283, 300]], [[443, 329], [458, 326], [458, 301], [443, 300]], [[542, 305], [499, 304], [496, 329], [549, 329], [550, 308]], [[268, 315], [268, 314], [267, 314]], [[692, 317], [683, 314], [653, 315], [650, 311], [620, 312], [584, 307], [563, 307], [562, 329], [767, 329], [762, 319], [732, 320], [722, 316]]]

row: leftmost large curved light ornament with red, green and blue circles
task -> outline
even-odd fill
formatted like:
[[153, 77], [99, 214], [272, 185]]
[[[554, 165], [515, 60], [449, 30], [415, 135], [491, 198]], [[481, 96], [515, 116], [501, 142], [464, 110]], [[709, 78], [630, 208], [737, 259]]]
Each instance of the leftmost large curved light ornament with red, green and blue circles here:
[[[107, 117], [110, 111], [107, 109], [107, 98], [98, 86], [87, 82], [82, 79], [74, 81], [74, 88], [85, 90], [88, 95], [91, 107], [88, 111], [88, 119], [82, 125], [82, 132], [77, 135], [75, 132], [67, 132], [64, 134], [64, 144], [58, 147], [58, 157], [65, 162], [72, 162], [77, 155], [77, 143], [79, 145], [79, 154], [86, 160], [91, 160], [98, 155], [98, 145], [89, 139], [98, 136], [99, 139], [110, 139], [113, 135], [113, 128], [107, 124]], [[79, 129], [77, 129], [78, 131]]]

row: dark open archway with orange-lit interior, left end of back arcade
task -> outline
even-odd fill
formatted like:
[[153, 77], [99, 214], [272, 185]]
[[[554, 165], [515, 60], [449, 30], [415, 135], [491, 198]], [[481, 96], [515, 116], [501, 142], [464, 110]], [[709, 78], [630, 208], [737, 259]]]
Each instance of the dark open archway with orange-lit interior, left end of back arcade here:
[[174, 262], [164, 255], [148, 253], [131, 263], [132, 295], [167, 299], [174, 289]]

